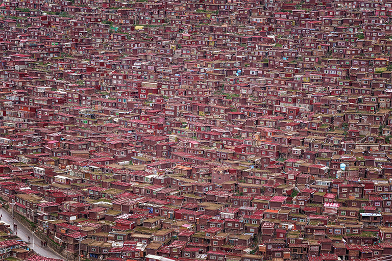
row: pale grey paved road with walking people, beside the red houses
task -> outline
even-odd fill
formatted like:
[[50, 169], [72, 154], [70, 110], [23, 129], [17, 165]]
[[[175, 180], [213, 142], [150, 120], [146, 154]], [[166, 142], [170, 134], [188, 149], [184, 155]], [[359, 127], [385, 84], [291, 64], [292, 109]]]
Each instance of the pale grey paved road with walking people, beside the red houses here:
[[[7, 211], [3, 211], [2, 221], [10, 224], [11, 228], [13, 228], [12, 215], [8, 214]], [[23, 226], [16, 219], [15, 219], [15, 224], [17, 226], [17, 236], [19, 238], [21, 238], [24, 242], [26, 242], [32, 249], [34, 249], [32, 232], [30, 232], [29, 229], [27, 229], [25, 226]], [[30, 236], [30, 243], [29, 243], [29, 239], [28, 239], [29, 236]], [[37, 254], [40, 254], [45, 257], [64, 259], [59, 254], [57, 254], [55, 251], [53, 251], [51, 248], [41, 247], [41, 240], [39, 238], [37, 238], [37, 236], [34, 236], [34, 245], [35, 245], [35, 252]]]

